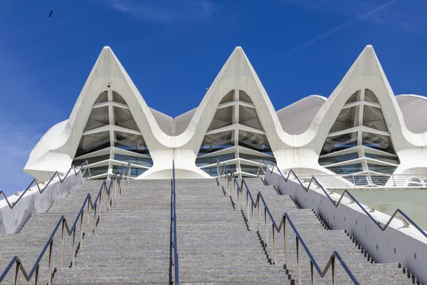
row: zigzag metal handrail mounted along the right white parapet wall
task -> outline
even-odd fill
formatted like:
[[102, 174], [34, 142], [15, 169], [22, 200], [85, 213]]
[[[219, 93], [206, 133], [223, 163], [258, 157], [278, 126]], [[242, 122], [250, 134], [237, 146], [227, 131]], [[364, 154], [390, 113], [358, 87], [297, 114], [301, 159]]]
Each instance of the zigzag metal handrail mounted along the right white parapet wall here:
[[[265, 164], [264, 160], [260, 160], [260, 165], [261, 163], [263, 163], [265, 165], [265, 168], [270, 172], [270, 174], [273, 174], [273, 170], [274, 167], [278, 170], [280, 176], [283, 178], [283, 180], [285, 180], [285, 182], [289, 181], [289, 177], [290, 174], [292, 173], [292, 175], [297, 179], [298, 183], [300, 183], [300, 185], [302, 186], [302, 189], [305, 190], [305, 192], [308, 192], [308, 190], [310, 189], [310, 186], [312, 184], [312, 182], [315, 183], [315, 185], [317, 185], [317, 187], [320, 188], [320, 190], [322, 190], [322, 192], [325, 193], [326, 197], [330, 200], [330, 202], [332, 202], [332, 204], [334, 204], [335, 207], [338, 207], [339, 204], [341, 204], [342, 198], [344, 196], [346, 196], [347, 198], [350, 199], [350, 204], [356, 203], [357, 206], [359, 206], [360, 209], [362, 209], [362, 211], [367, 214], [367, 216], [369, 217], [369, 219], [371, 219], [372, 222], [374, 222], [374, 224], [376, 224], [376, 227], [378, 227], [379, 229], [381, 229], [381, 232], [384, 232], [386, 230], [387, 227], [389, 227], [389, 224], [391, 223], [391, 221], [394, 219], [394, 217], [396, 217], [397, 219], [400, 219], [401, 222], [404, 223], [404, 227], [409, 227], [409, 224], [411, 224], [413, 227], [415, 227], [418, 232], [420, 232], [424, 237], [427, 238], [427, 232], [423, 231], [423, 229], [421, 229], [420, 226], [418, 226], [418, 224], [416, 224], [416, 222], [413, 222], [413, 220], [408, 217], [407, 214], [405, 214], [403, 211], [401, 211], [401, 209], [396, 209], [396, 211], [394, 211], [394, 213], [391, 215], [390, 219], [384, 224], [384, 227], [381, 226], [381, 222], [377, 221], [374, 217], [372, 217], [371, 212], [374, 212], [375, 209], [369, 209], [369, 211], [367, 211], [367, 209], [365, 207], [362, 206], [362, 204], [360, 204], [359, 201], [357, 201], [357, 199], [347, 190], [344, 190], [344, 192], [342, 192], [341, 197], [339, 197], [338, 201], [335, 202], [334, 199], [332, 199], [332, 197], [330, 196], [331, 193], [328, 193], [325, 188], [320, 184], [320, 182], [317, 181], [316, 177], [312, 176], [309, 184], [307, 187], [305, 187], [300, 178], [297, 177], [297, 175], [295, 174], [295, 172], [290, 169], [288, 176], [285, 178], [282, 174], [282, 172], [280, 171], [279, 167], [275, 164], [273, 164], [273, 167], [271, 168], [271, 170], [268, 168], [268, 165]], [[263, 167], [260, 166], [260, 168], [263, 170]], [[264, 171], [264, 170], [263, 170]]]

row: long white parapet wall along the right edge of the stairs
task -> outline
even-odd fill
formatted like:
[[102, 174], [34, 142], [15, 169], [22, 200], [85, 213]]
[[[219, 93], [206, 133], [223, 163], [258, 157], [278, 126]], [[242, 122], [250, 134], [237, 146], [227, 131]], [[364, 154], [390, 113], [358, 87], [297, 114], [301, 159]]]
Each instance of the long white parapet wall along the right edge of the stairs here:
[[[413, 227], [404, 227], [404, 222], [394, 219], [384, 232], [362, 209], [347, 197], [335, 207], [325, 193], [310, 187], [307, 192], [300, 183], [283, 179], [278, 173], [265, 173], [267, 185], [275, 185], [282, 195], [291, 195], [302, 208], [314, 209], [331, 229], [347, 229], [357, 242], [378, 263], [401, 263], [415, 276], [418, 282], [427, 284], [427, 238]], [[305, 184], [305, 187], [308, 183]], [[330, 195], [337, 202], [341, 195]], [[362, 204], [362, 206], [364, 206]], [[364, 206], [365, 209], [369, 207]], [[384, 227], [390, 216], [379, 211], [371, 216]], [[304, 238], [304, 237], [302, 237]]]

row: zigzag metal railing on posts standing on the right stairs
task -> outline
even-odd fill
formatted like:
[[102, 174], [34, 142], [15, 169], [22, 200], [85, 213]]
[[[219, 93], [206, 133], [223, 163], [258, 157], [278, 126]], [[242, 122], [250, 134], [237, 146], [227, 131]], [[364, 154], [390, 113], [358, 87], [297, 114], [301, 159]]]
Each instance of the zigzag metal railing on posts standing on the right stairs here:
[[[223, 169], [226, 168], [226, 165], [222, 165]], [[339, 263], [342, 265], [342, 268], [346, 272], [346, 274], [349, 276], [349, 279], [352, 280], [353, 284], [359, 284], [359, 281], [357, 281], [356, 277], [352, 274], [352, 271], [348, 268], [347, 264], [345, 263], [344, 259], [339, 255], [337, 251], [334, 251], [330, 259], [328, 260], [325, 269], [320, 269], [319, 264], [317, 264], [317, 261], [312, 256], [312, 253], [310, 252], [310, 249], [308, 249], [307, 245], [304, 242], [304, 239], [302, 239], [300, 233], [298, 232], [297, 228], [295, 227], [295, 224], [293, 224], [292, 219], [290, 219], [288, 213], [284, 212], [282, 219], [280, 220], [280, 224], [278, 225], [275, 222], [275, 219], [273, 218], [273, 215], [270, 212], [270, 209], [268, 209], [267, 203], [265, 202], [265, 199], [260, 191], [258, 191], [255, 200], [253, 199], [253, 196], [251, 194], [251, 191], [248, 188], [248, 185], [246, 185], [246, 181], [244, 178], [241, 180], [241, 185], [239, 186], [239, 183], [236, 179], [236, 176], [234, 175], [234, 172], [232, 170], [228, 170], [226, 172], [226, 175], [224, 175], [222, 181], [223, 187], [228, 187], [226, 185], [226, 180], [231, 180], [233, 183], [233, 187], [231, 187], [232, 193], [231, 197], [237, 196], [237, 203], [235, 203], [235, 206], [238, 207], [238, 209], [241, 209], [244, 211], [245, 209], [245, 199], [246, 196], [246, 208], [247, 208], [247, 219], [249, 224], [249, 207], [251, 205], [251, 217], [252, 217], [252, 229], [255, 228], [255, 218], [253, 217], [253, 209], [258, 209], [258, 233], [261, 232], [261, 217], [260, 217], [260, 205], [261, 202], [263, 203], [264, 207], [264, 228], [265, 228], [265, 245], [268, 244], [268, 218], [270, 219], [270, 223], [272, 225], [272, 236], [273, 236], [273, 255], [274, 255], [274, 264], [278, 264], [278, 258], [277, 258], [277, 247], [276, 247], [276, 239], [277, 235], [280, 234], [280, 232], [283, 231], [284, 236], [284, 253], [285, 253], [285, 266], [289, 268], [289, 261], [288, 261], [288, 231], [286, 224], [287, 222], [290, 224], [290, 227], [292, 228], [292, 231], [295, 233], [296, 236], [296, 250], [297, 250], [297, 279], [298, 284], [301, 285], [301, 255], [300, 255], [300, 245], [305, 249], [305, 252], [307, 253], [307, 256], [310, 258], [310, 271], [311, 271], [311, 284], [315, 284], [315, 271], [320, 275], [320, 277], [325, 277], [329, 269], [331, 268], [332, 271], [332, 284], [337, 285], [338, 279], [337, 279], [337, 268], [336, 268], [336, 261], [339, 261]], [[246, 191], [246, 195], [243, 194], [243, 188]], [[237, 193], [236, 193], [237, 192]], [[235, 200], [236, 201], [236, 200]], [[241, 202], [240, 202], [241, 201]], [[242, 205], [241, 205], [242, 204]], [[241, 207], [242, 206], [242, 207]]]

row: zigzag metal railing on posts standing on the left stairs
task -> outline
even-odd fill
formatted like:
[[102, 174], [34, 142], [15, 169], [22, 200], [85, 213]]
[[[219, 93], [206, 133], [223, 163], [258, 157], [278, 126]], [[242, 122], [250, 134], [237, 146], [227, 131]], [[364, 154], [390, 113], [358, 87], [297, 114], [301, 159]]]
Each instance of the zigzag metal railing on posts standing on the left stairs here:
[[[73, 267], [75, 265], [75, 229], [78, 224], [78, 220], [80, 219], [80, 249], [83, 247], [83, 214], [85, 205], [88, 204], [88, 217], [87, 217], [87, 232], [90, 232], [90, 209], [93, 209], [94, 211], [94, 227], [93, 232], [96, 233], [97, 224], [101, 221], [101, 212], [102, 212], [102, 190], [105, 190], [106, 194], [108, 195], [108, 208], [106, 205], [106, 201], [104, 199], [104, 210], [110, 210], [110, 205], [112, 204], [112, 195], [111, 195], [111, 187], [112, 182], [116, 180], [117, 182], [117, 189], [119, 191], [119, 194], [122, 192], [122, 182], [125, 181], [126, 185], [129, 183], [129, 177], [130, 177], [130, 163], [127, 165], [127, 171], [125, 171], [125, 164], [122, 165], [122, 170], [120, 171], [120, 176], [117, 175], [117, 171], [112, 175], [112, 178], [110, 180], [110, 185], [107, 187], [107, 181], [104, 180], [102, 182], [102, 185], [100, 187], [100, 190], [97, 193], [97, 196], [92, 201], [92, 197], [90, 193], [86, 195], [85, 201], [82, 204], [82, 207], [80, 208], [80, 211], [78, 212], [77, 217], [75, 218], [75, 221], [71, 227], [68, 226], [67, 219], [65, 219], [64, 216], [61, 216], [58, 220], [56, 227], [53, 229], [53, 232], [51, 233], [51, 236], [48, 238], [48, 241], [46, 242], [45, 246], [43, 247], [41, 253], [38, 255], [38, 258], [36, 262], [34, 263], [33, 267], [31, 268], [31, 271], [29, 274], [27, 274], [26, 269], [23, 267], [21, 259], [19, 257], [15, 256], [11, 259], [8, 266], [6, 266], [6, 269], [4, 269], [3, 273], [0, 275], [0, 283], [3, 281], [3, 279], [6, 277], [6, 275], [9, 273], [9, 271], [12, 269], [14, 264], [16, 264], [16, 271], [15, 271], [15, 284], [19, 284], [19, 271], [23, 274], [26, 281], [30, 281], [33, 277], [33, 274], [36, 274], [34, 284], [38, 284], [38, 275], [39, 275], [39, 268], [40, 268], [40, 262], [43, 258], [44, 254], [46, 253], [46, 250], [49, 247], [49, 262], [48, 262], [48, 284], [51, 285], [52, 283], [52, 261], [53, 261], [53, 238], [58, 232], [58, 228], [60, 224], [62, 223], [62, 243], [61, 243], [61, 267], [64, 266], [64, 254], [65, 254], [65, 229], [68, 236], [73, 234], [73, 257], [72, 257], [72, 263], [71, 266]], [[115, 190], [115, 187], [113, 187], [113, 190]], [[117, 194], [117, 192], [115, 193]], [[98, 203], [99, 201], [99, 203]], [[97, 205], [99, 204], [100, 210], [98, 215], [97, 214]]]

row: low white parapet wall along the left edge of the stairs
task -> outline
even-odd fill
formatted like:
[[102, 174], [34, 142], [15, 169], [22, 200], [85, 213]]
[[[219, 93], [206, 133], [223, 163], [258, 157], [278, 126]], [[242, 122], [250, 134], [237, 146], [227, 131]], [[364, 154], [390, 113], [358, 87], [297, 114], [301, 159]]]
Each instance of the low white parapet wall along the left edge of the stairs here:
[[[67, 197], [73, 188], [80, 187], [82, 184], [82, 172], [78, 172], [77, 175], [65, 177], [62, 183], [56, 177], [41, 194], [38, 192], [37, 186], [31, 187], [12, 209], [5, 199], [1, 199], [0, 234], [18, 233], [31, 214], [46, 212], [55, 199]], [[42, 187], [44, 185], [41, 185]], [[19, 199], [19, 195], [12, 195], [8, 199], [10, 203], [14, 203]]]

